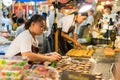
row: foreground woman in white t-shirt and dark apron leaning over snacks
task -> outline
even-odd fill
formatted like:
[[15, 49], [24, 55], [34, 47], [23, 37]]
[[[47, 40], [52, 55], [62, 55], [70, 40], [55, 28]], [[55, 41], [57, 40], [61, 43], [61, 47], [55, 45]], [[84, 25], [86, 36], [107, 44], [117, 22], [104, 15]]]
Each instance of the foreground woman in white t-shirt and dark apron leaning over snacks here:
[[33, 15], [25, 24], [25, 31], [19, 34], [9, 46], [5, 57], [11, 58], [15, 55], [21, 55], [27, 57], [29, 61], [58, 61], [61, 59], [61, 55], [58, 53], [51, 54], [49, 56], [39, 53], [38, 41], [35, 38], [36, 35], [43, 33], [46, 26], [46, 22], [41, 15]]

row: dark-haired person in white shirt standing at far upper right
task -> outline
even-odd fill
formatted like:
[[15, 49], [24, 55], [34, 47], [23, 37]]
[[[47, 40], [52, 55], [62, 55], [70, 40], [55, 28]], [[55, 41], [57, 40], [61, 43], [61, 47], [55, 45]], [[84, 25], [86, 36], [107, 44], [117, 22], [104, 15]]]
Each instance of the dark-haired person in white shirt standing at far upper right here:
[[106, 5], [104, 6], [104, 14], [103, 19], [101, 21], [102, 24], [102, 34], [104, 38], [109, 37], [111, 34], [111, 30], [114, 28], [114, 23], [116, 22], [115, 14], [112, 12], [112, 6]]

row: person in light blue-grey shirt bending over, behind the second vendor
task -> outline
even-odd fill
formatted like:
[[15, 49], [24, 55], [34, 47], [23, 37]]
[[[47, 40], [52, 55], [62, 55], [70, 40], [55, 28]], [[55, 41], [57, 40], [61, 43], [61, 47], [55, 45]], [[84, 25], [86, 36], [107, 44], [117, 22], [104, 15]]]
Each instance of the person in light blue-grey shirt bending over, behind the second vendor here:
[[78, 35], [77, 41], [80, 43], [89, 43], [91, 41], [91, 33], [95, 31], [95, 29], [93, 29], [94, 11], [89, 10], [87, 13], [88, 13], [87, 19], [80, 24], [77, 30]]

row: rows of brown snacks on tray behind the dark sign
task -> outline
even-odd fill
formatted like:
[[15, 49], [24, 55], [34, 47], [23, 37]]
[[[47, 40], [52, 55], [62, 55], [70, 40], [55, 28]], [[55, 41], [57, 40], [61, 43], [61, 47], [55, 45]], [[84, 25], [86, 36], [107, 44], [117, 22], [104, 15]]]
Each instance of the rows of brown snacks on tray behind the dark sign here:
[[57, 63], [56, 69], [59, 73], [61, 73], [64, 70], [67, 70], [88, 74], [90, 73], [91, 67], [92, 62], [90, 61], [62, 59]]

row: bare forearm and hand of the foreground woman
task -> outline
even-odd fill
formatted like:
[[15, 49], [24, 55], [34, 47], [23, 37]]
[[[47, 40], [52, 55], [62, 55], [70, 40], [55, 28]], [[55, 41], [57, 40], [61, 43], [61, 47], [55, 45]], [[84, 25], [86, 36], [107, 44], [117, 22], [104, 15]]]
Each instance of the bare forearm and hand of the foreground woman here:
[[23, 57], [27, 57], [30, 61], [38, 62], [38, 61], [58, 61], [61, 59], [61, 55], [59, 54], [54, 54], [50, 56], [45, 56], [43, 54], [36, 54], [33, 52], [24, 52], [22, 53]]

